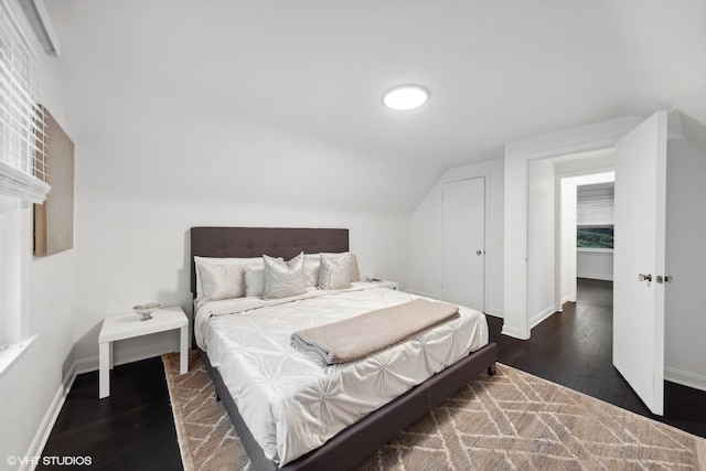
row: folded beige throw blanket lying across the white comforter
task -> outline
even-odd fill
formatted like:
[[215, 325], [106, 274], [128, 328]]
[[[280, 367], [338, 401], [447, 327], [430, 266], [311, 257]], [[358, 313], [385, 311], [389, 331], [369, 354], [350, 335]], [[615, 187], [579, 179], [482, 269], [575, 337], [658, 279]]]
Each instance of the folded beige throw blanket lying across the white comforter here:
[[327, 364], [352, 362], [459, 317], [458, 306], [415, 299], [291, 334], [291, 345]]

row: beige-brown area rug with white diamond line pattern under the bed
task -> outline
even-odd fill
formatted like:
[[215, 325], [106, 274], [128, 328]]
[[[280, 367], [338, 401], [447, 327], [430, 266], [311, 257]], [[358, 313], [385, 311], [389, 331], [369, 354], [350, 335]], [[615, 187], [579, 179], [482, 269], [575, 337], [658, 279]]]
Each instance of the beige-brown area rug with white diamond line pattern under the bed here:
[[[184, 469], [252, 470], [199, 355], [162, 358]], [[446, 469], [706, 470], [706, 440], [499, 364], [360, 467]]]

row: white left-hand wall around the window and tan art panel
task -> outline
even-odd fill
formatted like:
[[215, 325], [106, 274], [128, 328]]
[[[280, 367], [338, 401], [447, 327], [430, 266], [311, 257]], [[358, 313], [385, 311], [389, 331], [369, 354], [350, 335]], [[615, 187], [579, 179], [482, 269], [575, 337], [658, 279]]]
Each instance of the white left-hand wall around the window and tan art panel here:
[[[66, 121], [58, 61], [42, 54], [43, 105], [72, 136]], [[24, 237], [32, 240], [32, 207], [24, 210]], [[9, 467], [9, 456], [35, 456], [41, 451], [43, 432], [58, 413], [64, 397], [63, 381], [71, 377], [74, 345], [74, 319], [78, 286], [77, 250], [32, 259], [28, 243], [29, 306], [25, 314], [30, 334], [39, 338], [24, 356], [0, 379], [0, 469]]]

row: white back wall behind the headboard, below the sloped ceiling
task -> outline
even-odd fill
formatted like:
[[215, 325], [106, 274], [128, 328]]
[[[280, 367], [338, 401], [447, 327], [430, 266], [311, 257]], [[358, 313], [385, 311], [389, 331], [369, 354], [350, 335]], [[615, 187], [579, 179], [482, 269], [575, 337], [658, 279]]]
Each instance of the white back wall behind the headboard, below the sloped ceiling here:
[[[167, 182], [165, 185], [169, 183]], [[143, 301], [181, 304], [191, 312], [189, 228], [197, 225], [346, 227], [362, 274], [407, 283], [408, 220], [392, 214], [201, 202], [185, 189], [179, 199], [99, 195], [82, 204], [76, 356], [97, 365], [97, 333], [104, 317]], [[195, 201], [194, 201], [195, 200]], [[143, 229], [137, 229], [143, 228]], [[173, 350], [170, 334], [116, 345], [116, 363]]]

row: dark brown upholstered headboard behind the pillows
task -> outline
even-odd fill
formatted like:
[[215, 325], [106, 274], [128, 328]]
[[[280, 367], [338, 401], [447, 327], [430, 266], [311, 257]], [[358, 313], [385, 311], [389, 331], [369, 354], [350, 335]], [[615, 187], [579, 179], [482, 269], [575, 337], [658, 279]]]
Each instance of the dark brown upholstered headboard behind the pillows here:
[[196, 292], [194, 256], [259, 257], [263, 254], [286, 260], [304, 254], [349, 250], [349, 229], [284, 227], [192, 227], [191, 292]]

